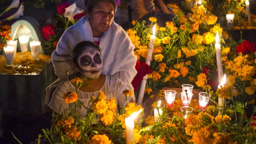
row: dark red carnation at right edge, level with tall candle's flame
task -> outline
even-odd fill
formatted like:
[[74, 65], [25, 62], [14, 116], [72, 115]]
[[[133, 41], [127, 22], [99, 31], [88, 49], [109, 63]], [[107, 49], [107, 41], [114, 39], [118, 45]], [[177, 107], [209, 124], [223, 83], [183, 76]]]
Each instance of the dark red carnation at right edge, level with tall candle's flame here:
[[246, 52], [254, 52], [255, 51], [255, 44], [254, 42], [250, 42], [248, 40], [242, 42], [239, 46], [236, 46], [236, 53], [242, 52], [245, 54]]

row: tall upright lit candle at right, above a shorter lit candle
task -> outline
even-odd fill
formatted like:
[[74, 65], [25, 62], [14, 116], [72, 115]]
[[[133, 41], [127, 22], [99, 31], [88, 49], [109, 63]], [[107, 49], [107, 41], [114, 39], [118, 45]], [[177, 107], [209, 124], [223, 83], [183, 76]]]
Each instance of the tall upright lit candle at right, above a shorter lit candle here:
[[216, 33], [215, 36], [215, 49], [216, 49], [216, 61], [217, 61], [217, 69], [218, 69], [218, 80], [220, 81], [223, 75], [223, 69], [222, 69], [222, 61], [221, 61], [221, 50], [220, 50], [220, 44], [219, 44], [219, 33]]

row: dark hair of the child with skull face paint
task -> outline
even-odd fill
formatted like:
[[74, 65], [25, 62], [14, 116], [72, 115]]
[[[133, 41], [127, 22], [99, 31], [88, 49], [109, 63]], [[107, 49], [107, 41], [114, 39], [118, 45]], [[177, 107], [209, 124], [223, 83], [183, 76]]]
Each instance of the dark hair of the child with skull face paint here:
[[77, 64], [77, 59], [82, 54], [82, 52], [89, 47], [96, 48], [100, 52], [100, 47], [94, 44], [94, 42], [90, 42], [90, 41], [79, 42], [78, 44], [76, 44], [76, 46], [72, 50], [73, 62], [75, 64]]

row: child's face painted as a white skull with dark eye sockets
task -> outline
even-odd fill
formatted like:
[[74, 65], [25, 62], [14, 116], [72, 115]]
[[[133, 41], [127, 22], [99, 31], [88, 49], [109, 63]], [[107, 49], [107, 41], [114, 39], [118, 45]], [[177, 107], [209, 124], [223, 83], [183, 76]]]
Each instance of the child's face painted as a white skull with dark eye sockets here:
[[100, 52], [96, 48], [86, 48], [78, 57], [80, 73], [89, 79], [96, 79], [102, 71], [102, 60]]

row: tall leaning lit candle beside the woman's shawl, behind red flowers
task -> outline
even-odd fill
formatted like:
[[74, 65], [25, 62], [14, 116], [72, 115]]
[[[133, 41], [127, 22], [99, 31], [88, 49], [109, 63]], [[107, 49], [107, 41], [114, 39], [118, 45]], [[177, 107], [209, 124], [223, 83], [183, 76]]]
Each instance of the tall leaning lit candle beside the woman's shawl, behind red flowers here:
[[[156, 34], [156, 24], [153, 28], [153, 35], [150, 36], [150, 41], [149, 41], [149, 45], [148, 45], [148, 53], [147, 53], [147, 58], [146, 58], [146, 64], [148, 64], [148, 65], [150, 65], [150, 60], [152, 58], [154, 42], [155, 42], [155, 38], [156, 38], [155, 34]], [[138, 101], [137, 101], [137, 104], [140, 104], [140, 105], [142, 104], [142, 100], [144, 97], [144, 91], [146, 88], [147, 78], [148, 78], [148, 75], [144, 76], [141, 81], [141, 84], [140, 84], [140, 92], [139, 92]]]

